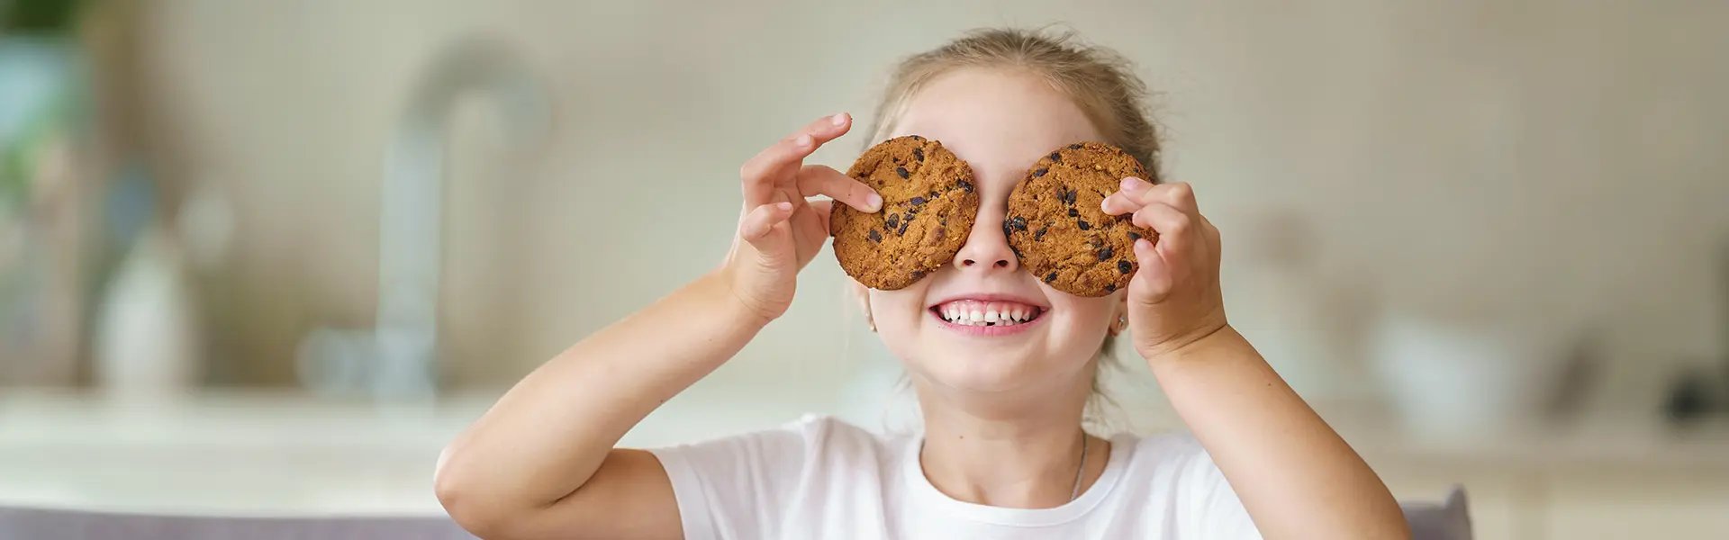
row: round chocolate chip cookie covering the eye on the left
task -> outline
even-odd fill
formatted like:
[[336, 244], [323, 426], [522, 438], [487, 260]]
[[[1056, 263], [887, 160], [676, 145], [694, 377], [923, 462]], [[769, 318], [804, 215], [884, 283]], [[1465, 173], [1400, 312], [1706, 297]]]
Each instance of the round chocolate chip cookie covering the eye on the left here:
[[930, 138], [884, 140], [847, 177], [875, 189], [882, 211], [835, 204], [828, 230], [840, 268], [871, 289], [903, 289], [953, 261], [979, 216], [972, 168]]

